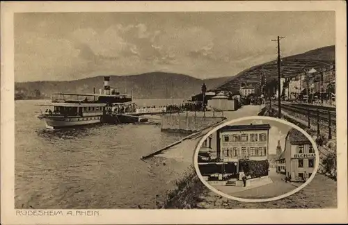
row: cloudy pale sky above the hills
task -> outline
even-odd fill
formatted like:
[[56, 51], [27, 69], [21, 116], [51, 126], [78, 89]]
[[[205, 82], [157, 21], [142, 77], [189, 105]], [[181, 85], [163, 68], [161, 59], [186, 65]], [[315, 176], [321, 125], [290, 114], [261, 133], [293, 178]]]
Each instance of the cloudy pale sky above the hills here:
[[234, 76], [335, 44], [334, 12], [15, 13], [15, 81], [173, 72]]

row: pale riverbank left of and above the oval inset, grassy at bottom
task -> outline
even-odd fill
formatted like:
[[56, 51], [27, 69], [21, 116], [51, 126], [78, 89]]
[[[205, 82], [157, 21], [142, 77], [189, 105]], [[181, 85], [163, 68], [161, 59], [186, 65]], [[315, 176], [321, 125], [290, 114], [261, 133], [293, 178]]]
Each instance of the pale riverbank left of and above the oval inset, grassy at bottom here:
[[[258, 115], [259, 106], [244, 106], [237, 111], [223, 112], [228, 122], [239, 117]], [[206, 116], [212, 112], [206, 112]], [[217, 114], [217, 113], [216, 113]], [[198, 116], [203, 112], [198, 113]], [[161, 153], [144, 160], [152, 168], [154, 176], [164, 179], [167, 192], [159, 192], [156, 197], [157, 208], [198, 208], [198, 203], [203, 201], [201, 195], [210, 191], [200, 182], [193, 167], [193, 154], [197, 144], [203, 136], [213, 127], [205, 128], [198, 135], [184, 140]], [[175, 199], [172, 196], [177, 196]]]

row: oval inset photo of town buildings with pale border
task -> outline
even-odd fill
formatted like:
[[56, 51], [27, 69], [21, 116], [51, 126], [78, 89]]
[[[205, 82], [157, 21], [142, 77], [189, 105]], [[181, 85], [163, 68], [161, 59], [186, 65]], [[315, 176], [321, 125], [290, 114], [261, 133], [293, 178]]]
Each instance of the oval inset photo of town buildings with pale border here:
[[315, 141], [290, 122], [244, 117], [217, 126], [194, 154], [200, 180], [223, 197], [274, 201], [304, 188], [317, 172]]

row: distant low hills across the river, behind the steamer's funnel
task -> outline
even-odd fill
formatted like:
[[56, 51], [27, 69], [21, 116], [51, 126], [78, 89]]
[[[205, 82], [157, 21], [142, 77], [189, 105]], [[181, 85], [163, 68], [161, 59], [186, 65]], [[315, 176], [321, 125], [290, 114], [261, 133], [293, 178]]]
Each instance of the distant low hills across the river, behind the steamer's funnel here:
[[[208, 88], [216, 88], [228, 80], [226, 78], [211, 78], [200, 80], [184, 74], [171, 74], [164, 72], [152, 72], [132, 76], [112, 76], [110, 85], [118, 88], [120, 92], [131, 92], [136, 99], [160, 99], [171, 98], [185, 99], [192, 94], [200, 92], [203, 83]], [[99, 92], [104, 82], [103, 76], [84, 78], [76, 81], [34, 81], [15, 83], [15, 90], [25, 92], [27, 97], [33, 98], [35, 90], [40, 90], [42, 97], [49, 97], [55, 92], [65, 93], [93, 93]], [[37, 91], [36, 91], [37, 92]]]

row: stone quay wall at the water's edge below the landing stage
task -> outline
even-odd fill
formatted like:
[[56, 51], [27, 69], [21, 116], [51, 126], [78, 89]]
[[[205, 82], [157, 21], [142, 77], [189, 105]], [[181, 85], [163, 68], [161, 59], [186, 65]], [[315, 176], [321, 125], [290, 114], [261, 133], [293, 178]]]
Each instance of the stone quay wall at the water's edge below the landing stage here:
[[193, 133], [217, 124], [225, 117], [197, 117], [194, 115], [166, 114], [161, 117], [161, 131]]

